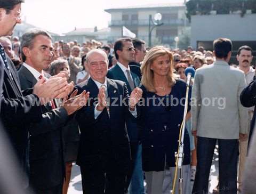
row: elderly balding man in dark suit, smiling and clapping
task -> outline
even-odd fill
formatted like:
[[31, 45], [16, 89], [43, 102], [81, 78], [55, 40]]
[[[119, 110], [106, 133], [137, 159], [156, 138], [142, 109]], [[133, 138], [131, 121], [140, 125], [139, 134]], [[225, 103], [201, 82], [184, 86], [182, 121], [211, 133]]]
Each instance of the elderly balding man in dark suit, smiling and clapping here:
[[90, 51], [86, 66], [91, 78], [76, 85], [78, 93], [90, 92], [87, 106], [76, 115], [81, 130], [77, 164], [81, 167], [83, 192], [122, 194], [131, 163], [125, 121], [133, 116], [127, 105], [127, 86], [106, 78], [108, 60], [102, 50]]

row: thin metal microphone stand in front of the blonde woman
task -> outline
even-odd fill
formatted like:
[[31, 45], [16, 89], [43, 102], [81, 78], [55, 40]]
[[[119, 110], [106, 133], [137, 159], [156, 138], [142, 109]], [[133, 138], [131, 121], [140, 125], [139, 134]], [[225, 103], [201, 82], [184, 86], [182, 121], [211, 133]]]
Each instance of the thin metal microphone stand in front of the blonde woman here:
[[[191, 75], [190, 75], [190, 77], [191, 77]], [[175, 157], [178, 157], [177, 166], [178, 166], [179, 173], [180, 173], [179, 194], [183, 193], [183, 174], [182, 174], [182, 162], [183, 162], [183, 158], [184, 158], [184, 143], [183, 143], [183, 140], [184, 140], [185, 123], [186, 123], [186, 116], [187, 116], [187, 110], [188, 110], [189, 83], [190, 83], [190, 79], [188, 79], [187, 90], [186, 90], [186, 100], [185, 100], [185, 108], [184, 108], [184, 114], [183, 114], [183, 122], [182, 122], [183, 125], [182, 125], [181, 139], [179, 140], [179, 149], [178, 149], [178, 153], [175, 152]]]

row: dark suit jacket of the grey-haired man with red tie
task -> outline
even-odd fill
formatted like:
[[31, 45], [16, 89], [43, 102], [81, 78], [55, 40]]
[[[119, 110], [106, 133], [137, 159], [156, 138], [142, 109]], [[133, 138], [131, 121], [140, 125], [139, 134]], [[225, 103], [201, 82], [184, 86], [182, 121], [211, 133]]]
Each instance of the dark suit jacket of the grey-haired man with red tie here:
[[[37, 80], [24, 66], [18, 71], [21, 88], [33, 87]], [[63, 182], [65, 163], [61, 128], [68, 115], [64, 108], [42, 106], [42, 120], [31, 124], [30, 132], [30, 183], [36, 189], [55, 187]]]

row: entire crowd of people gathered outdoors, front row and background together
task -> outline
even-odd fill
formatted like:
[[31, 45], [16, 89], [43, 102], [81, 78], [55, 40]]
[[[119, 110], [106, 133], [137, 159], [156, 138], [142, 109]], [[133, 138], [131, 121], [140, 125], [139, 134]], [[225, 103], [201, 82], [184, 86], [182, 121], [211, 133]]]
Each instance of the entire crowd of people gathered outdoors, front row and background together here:
[[[216, 39], [214, 51], [149, 48], [127, 37], [107, 45], [53, 43], [43, 29], [19, 38], [12, 31], [21, 23], [22, 2], [0, 1], [1, 136], [7, 142], [1, 156], [17, 158], [10, 161], [10, 177], [0, 174], [1, 193], [67, 194], [74, 162], [83, 193], [179, 193], [181, 186], [185, 194], [209, 193], [217, 144], [213, 193], [253, 193], [248, 188], [255, 186], [244, 181], [251, 177], [246, 158], [255, 128], [250, 46], [239, 48], [234, 65], [227, 38]], [[187, 67], [196, 71], [190, 83]], [[175, 152], [183, 124], [180, 177]], [[5, 157], [9, 149], [14, 156]]]

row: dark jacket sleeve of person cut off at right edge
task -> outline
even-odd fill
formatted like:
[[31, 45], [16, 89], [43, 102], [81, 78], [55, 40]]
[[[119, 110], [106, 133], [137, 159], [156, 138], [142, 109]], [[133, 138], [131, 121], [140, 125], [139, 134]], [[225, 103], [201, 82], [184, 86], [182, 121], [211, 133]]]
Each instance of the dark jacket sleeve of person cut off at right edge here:
[[250, 130], [250, 134], [249, 134], [249, 141], [251, 139], [252, 136], [252, 132], [253, 132], [253, 127], [255, 125], [255, 118], [256, 118], [256, 77], [253, 77], [252, 82], [244, 88], [244, 90], [242, 91], [242, 93], [240, 94], [240, 101], [241, 104], [244, 107], [252, 107], [254, 106], [254, 114], [251, 120], [251, 130]]

